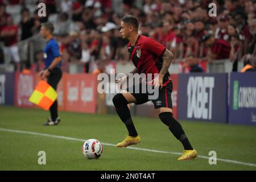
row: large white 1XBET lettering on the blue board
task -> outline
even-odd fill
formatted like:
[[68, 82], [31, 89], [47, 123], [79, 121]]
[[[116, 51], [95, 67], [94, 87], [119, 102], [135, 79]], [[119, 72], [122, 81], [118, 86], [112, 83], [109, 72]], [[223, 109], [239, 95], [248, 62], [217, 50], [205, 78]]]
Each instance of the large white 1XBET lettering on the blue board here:
[[189, 77], [187, 84], [187, 117], [212, 119], [214, 77]]

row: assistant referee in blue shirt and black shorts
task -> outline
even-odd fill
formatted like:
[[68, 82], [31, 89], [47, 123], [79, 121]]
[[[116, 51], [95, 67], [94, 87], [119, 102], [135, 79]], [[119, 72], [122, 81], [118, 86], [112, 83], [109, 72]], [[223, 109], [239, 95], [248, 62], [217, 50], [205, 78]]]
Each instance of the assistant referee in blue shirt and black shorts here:
[[[46, 47], [44, 48], [44, 63], [46, 68], [40, 71], [39, 76], [47, 78], [47, 82], [52, 86], [53, 89], [57, 89], [57, 84], [59, 83], [62, 71], [61, 71], [61, 55], [59, 45], [55, 39], [53, 39], [52, 32], [54, 30], [52, 23], [43, 23], [40, 34], [46, 39]], [[53, 102], [50, 107], [51, 117], [44, 124], [46, 126], [57, 125], [60, 122], [60, 118], [57, 112], [57, 100]]]

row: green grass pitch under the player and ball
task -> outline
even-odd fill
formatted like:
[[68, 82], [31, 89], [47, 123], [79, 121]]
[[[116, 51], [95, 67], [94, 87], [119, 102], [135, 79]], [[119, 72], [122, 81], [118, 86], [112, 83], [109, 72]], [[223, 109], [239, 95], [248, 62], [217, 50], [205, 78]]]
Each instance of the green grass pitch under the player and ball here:
[[[43, 126], [48, 112], [0, 106], [0, 170], [255, 170], [256, 127], [207, 122], [181, 121], [192, 146], [200, 156], [216, 151], [216, 165], [208, 159], [178, 161], [174, 153], [117, 148], [103, 144], [104, 154], [98, 160], [85, 159], [84, 142], [3, 129], [30, 131], [76, 139], [96, 138], [115, 144], [127, 131], [117, 115], [60, 112], [58, 126]], [[157, 118], [133, 117], [142, 142], [136, 148], [182, 152], [183, 147]], [[1, 130], [2, 129], [2, 130]], [[38, 164], [38, 152], [46, 152], [46, 165]], [[229, 160], [242, 162], [234, 163]], [[246, 163], [246, 164], [245, 164]], [[248, 164], [249, 163], [249, 164]], [[250, 166], [251, 164], [251, 166]]]

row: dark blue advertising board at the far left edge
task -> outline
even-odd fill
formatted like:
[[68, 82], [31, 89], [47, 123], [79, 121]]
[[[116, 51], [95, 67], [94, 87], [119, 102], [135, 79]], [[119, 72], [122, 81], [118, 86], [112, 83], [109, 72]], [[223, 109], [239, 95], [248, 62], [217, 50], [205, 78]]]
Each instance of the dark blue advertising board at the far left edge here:
[[0, 105], [14, 105], [14, 73], [0, 73]]

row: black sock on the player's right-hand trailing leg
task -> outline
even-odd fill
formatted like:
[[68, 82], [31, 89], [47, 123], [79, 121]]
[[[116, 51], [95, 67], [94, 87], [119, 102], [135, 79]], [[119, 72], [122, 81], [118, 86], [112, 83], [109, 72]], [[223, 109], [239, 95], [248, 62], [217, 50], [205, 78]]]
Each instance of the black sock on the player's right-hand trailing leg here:
[[184, 150], [193, 150], [193, 147], [189, 143], [187, 136], [180, 123], [172, 117], [172, 113], [164, 112], [159, 114], [161, 121], [169, 127], [171, 133], [175, 136], [176, 139], [180, 140], [183, 144]]

